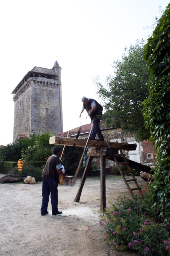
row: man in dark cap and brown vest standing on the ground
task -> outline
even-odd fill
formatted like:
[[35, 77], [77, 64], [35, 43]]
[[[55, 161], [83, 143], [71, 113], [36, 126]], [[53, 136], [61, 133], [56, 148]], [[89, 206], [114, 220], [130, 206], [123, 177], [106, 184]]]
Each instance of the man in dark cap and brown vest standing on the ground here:
[[60, 160], [61, 148], [54, 147], [53, 155], [47, 159], [43, 170], [43, 200], [41, 205], [41, 215], [48, 214], [48, 200], [51, 193], [52, 215], [61, 214], [58, 211], [58, 183], [60, 183], [60, 175], [65, 176], [62, 172], [62, 163]]

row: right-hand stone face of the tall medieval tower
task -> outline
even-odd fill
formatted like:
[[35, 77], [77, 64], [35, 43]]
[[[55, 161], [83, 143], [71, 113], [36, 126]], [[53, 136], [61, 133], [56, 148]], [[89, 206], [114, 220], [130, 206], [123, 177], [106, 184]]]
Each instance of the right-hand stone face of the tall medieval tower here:
[[31, 104], [31, 133], [39, 128], [54, 134], [63, 131], [62, 110], [60, 108], [61, 86], [51, 79], [33, 81]]

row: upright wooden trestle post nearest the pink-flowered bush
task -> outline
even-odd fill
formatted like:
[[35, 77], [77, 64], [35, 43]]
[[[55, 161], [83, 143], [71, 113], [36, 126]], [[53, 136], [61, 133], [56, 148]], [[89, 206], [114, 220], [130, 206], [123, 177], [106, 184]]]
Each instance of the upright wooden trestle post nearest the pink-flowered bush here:
[[100, 151], [100, 210], [106, 210], [106, 157]]

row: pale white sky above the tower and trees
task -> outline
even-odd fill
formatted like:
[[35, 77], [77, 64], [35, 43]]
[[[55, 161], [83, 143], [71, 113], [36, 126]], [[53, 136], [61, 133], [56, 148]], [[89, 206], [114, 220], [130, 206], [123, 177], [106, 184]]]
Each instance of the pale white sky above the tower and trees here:
[[[93, 79], [104, 83], [112, 63], [136, 40], [151, 34], [143, 27], [160, 17], [168, 0], [6, 0], [0, 3], [0, 145], [13, 140], [11, 92], [34, 66], [62, 68], [64, 131], [80, 126], [82, 96], [95, 98]], [[87, 113], [82, 114], [81, 123]]]

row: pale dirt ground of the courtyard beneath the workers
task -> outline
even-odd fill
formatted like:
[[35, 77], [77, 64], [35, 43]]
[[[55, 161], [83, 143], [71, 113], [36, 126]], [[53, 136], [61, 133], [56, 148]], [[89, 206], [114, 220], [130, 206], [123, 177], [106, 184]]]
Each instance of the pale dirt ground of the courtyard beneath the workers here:
[[[3, 174], [0, 174], [2, 177]], [[145, 182], [138, 177], [140, 185]], [[24, 183], [0, 184], [0, 255], [7, 256], [136, 256], [111, 254], [99, 226], [100, 177], [88, 177], [79, 203], [74, 186], [58, 186], [61, 215], [41, 216], [41, 187]], [[106, 177], [106, 205], [119, 195], [129, 195], [120, 176]], [[87, 230], [91, 227], [91, 230]]]

